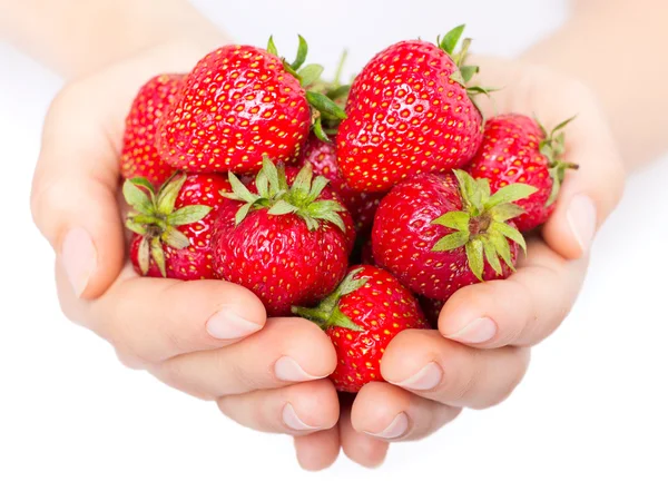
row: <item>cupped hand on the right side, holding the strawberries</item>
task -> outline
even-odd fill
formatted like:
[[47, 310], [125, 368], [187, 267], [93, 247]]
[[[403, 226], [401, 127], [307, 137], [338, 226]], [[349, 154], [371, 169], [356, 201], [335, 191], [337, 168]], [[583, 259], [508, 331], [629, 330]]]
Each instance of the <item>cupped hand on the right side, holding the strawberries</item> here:
[[505, 400], [522, 380], [530, 350], [552, 334], [576, 302], [600, 225], [619, 202], [621, 158], [596, 95], [546, 68], [479, 58], [485, 86], [502, 88], [495, 112], [538, 117], [551, 128], [577, 115], [567, 129], [569, 173], [557, 208], [540, 235], [528, 239], [528, 257], [507, 281], [459, 291], [445, 304], [439, 331], [406, 331], [381, 363], [392, 383], [367, 384], [352, 404], [342, 402], [338, 426], [295, 439], [302, 466], [330, 465], [340, 446], [353, 461], [374, 466], [389, 443], [422, 439], [458, 416]]

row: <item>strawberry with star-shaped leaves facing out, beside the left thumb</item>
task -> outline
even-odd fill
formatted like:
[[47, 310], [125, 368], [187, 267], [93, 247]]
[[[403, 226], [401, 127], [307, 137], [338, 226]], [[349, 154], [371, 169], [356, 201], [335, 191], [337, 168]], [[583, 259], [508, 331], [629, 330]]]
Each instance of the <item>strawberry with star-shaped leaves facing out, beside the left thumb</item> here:
[[136, 235], [130, 259], [137, 273], [194, 281], [215, 278], [212, 233], [216, 213], [233, 205], [219, 174], [179, 174], [156, 193], [145, 178], [126, 180], [122, 193], [134, 208], [126, 226]]

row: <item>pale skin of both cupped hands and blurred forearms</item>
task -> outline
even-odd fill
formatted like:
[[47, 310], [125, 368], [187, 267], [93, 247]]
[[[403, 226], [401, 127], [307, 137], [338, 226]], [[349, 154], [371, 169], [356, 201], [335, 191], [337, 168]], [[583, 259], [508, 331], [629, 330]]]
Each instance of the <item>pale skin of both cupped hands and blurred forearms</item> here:
[[392, 383], [340, 402], [326, 379], [336, 356], [314, 324], [267, 321], [262, 303], [233, 284], [139, 278], [126, 263], [118, 205], [125, 114], [145, 80], [188, 71], [228, 42], [225, 35], [183, 0], [55, 4], [0, 0], [0, 30], [69, 79], [45, 124], [31, 199], [56, 250], [63, 312], [111, 343], [128, 366], [217, 402], [245, 426], [293, 435], [307, 470], [326, 468], [341, 450], [375, 466], [391, 442], [424, 438], [464, 407], [503, 401], [524, 375], [530, 348], [574, 303], [596, 230], [628, 170], [668, 149], [668, 118], [652, 112], [668, 109], [668, 95], [633, 91], [668, 78], [655, 63], [668, 46], [662, 0], [581, 0], [560, 31], [520, 60], [478, 57], [481, 80], [503, 88], [498, 111], [534, 114], [547, 126], [578, 115], [568, 160], [580, 169], [569, 174], [515, 275], [456, 293], [439, 331], [405, 332], [390, 344], [381, 369]]

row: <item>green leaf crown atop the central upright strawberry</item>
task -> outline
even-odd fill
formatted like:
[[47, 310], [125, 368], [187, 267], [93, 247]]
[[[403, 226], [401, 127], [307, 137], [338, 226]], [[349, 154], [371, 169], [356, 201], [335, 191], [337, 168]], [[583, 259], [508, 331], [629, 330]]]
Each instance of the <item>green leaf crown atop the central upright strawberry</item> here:
[[285, 177], [285, 168], [276, 167], [267, 156], [263, 158], [262, 170], [255, 178], [257, 194], [244, 186], [244, 184], [229, 173], [229, 183], [232, 193], [222, 195], [233, 200], [244, 202], [245, 204], [236, 214], [235, 223], [240, 224], [248, 213], [261, 208], [267, 208], [268, 214], [282, 216], [295, 214], [304, 219], [310, 230], [315, 230], [322, 222], [328, 222], [345, 233], [345, 223], [338, 213], [345, 208], [335, 200], [318, 199], [327, 179], [323, 176], [313, 178], [311, 164], [306, 164], [288, 186]]

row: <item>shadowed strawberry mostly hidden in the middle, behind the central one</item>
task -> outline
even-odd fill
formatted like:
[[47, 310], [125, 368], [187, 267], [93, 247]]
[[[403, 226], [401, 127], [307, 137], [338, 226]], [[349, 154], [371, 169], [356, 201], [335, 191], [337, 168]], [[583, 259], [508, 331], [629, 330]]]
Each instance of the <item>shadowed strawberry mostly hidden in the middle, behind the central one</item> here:
[[330, 187], [353, 216], [358, 233], [366, 233], [373, 226], [373, 217], [383, 198], [382, 194], [358, 193], [347, 185], [336, 163], [336, 146], [323, 141], [313, 134], [304, 148], [304, 160], [313, 166], [313, 173], [330, 180]]

